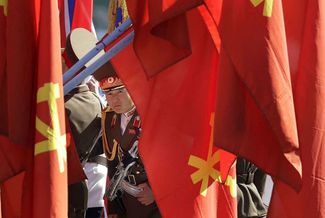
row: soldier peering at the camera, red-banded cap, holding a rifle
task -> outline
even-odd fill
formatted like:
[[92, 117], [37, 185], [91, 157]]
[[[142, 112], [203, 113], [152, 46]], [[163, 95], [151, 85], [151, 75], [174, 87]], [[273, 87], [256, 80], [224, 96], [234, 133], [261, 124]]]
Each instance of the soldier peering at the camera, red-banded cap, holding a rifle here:
[[[96, 80], [101, 81], [99, 86], [105, 92], [107, 103], [110, 105], [102, 111], [102, 128], [104, 152], [108, 159], [108, 175], [111, 179], [119, 161], [138, 139], [141, 119], [122, 80], [117, 76], [110, 62], [107, 62], [104, 67], [105, 71], [93, 75]], [[139, 156], [136, 158], [136, 165], [131, 174], [128, 175], [128, 180], [136, 185], [137, 189], [144, 188], [144, 191], [135, 196], [123, 194], [125, 212], [118, 211], [115, 203], [109, 201], [108, 217], [161, 217], [148, 182], [145, 166]]]

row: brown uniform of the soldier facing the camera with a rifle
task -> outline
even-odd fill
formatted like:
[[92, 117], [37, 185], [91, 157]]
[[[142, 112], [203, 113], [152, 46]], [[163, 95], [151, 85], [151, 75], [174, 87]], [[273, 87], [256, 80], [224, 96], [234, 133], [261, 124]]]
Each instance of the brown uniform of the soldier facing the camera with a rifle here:
[[[121, 114], [117, 114], [110, 107], [105, 108], [103, 110], [103, 113], [105, 115], [102, 115], [102, 117], [105, 119], [105, 135], [108, 142], [108, 146], [110, 149], [110, 152], [112, 152], [114, 141], [116, 140], [118, 144], [120, 144], [120, 153], [123, 152], [123, 156], [128, 152], [128, 150], [132, 147], [134, 142], [138, 140], [139, 135], [139, 128], [140, 128], [140, 117], [138, 113], [135, 111], [132, 118], [130, 119], [129, 123], [126, 126], [126, 129], [123, 133], [123, 136], [121, 135]], [[104, 131], [104, 130], [103, 130]], [[104, 137], [104, 134], [103, 134]], [[105, 139], [103, 138], [103, 141]], [[118, 148], [116, 151], [116, 155], [114, 160], [107, 161], [108, 162], [108, 176], [111, 179], [115, 172], [118, 163], [119, 163], [119, 157], [118, 157]], [[108, 154], [109, 157], [111, 157], [111, 154]], [[136, 165], [133, 167], [131, 174], [135, 176], [135, 179], [133, 180], [133, 177], [131, 179], [131, 183], [134, 181], [136, 182], [136, 185], [141, 183], [147, 183], [149, 185], [145, 167], [141, 161], [141, 158], [138, 154], [138, 157], [136, 158]], [[133, 183], [134, 184], [134, 183]], [[149, 185], [150, 187], [150, 185]], [[123, 204], [126, 208], [126, 212], [120, 213], [117, 210], [116, 204], [114, 202], [108, 201], [108, 214], [118, 214], [118, 217], [132, 217], [132, 218], [146, 218], [146, 217], [161, 217], [159, 209], [156, 205], [156, 202], [153, 202], [149, 205], [144, 205], [140, 201], [137, 200], [136, 197], [129, 195], [128, 193], [124, 193], [122, 196]]]

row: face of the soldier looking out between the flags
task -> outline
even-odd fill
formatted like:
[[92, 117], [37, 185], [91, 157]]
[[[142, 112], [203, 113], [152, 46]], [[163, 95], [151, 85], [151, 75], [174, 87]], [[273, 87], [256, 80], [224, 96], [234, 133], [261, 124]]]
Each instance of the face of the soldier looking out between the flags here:
[[105, 92], [106, 101], [116, 113], [126, 113], [134, 107], [134, 103], [125, 88]]

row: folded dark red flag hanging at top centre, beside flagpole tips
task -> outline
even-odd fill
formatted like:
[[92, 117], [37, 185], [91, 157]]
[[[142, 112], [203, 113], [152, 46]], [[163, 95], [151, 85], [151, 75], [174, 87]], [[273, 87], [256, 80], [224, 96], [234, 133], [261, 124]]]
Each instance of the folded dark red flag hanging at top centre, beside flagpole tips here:
[[134, 50], [148, 78], [191, 54], [185, 12], [202, 0], [126, 2], [134, 24]]

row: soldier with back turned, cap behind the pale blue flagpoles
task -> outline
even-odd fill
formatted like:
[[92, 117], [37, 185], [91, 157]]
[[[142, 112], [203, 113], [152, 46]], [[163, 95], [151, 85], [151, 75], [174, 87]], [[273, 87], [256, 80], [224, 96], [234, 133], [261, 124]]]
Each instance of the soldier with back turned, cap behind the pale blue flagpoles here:
[[[78, 29], [75, 29], [69, 34], [66, 48], [62, 50], [64, 67], [66, 65], [71, 67], [73, 63], [76, 63], [79, 58], [90, 50], [89, 47], [94, 47], [96, 43], [96, 41], [93, 43], [90, 41], [88, 42], [89, 47], [86, 45], [82, 48], [77, 46], [78, 50], [74, 51], [73, 46], [79, 44], [77, 40], [79, 38], [78, 31]], [[85, 80], [64, 96], [64, 102], [72, 138], [81, 165], [84, 167], [93, 148], [102, 146], [97, 141], [101, 135], [101, 110], [104, 107], [96, 94], [89, 91]], [[100, 151], [101, 149], [96, 148], [93, 151], [98, 150]], [[100, 154], [100, 152], [97, 154]], [[92, 153], [92, 156], [97, 154]], [[68, 217], [84, 218], [85, 211], [87, 210], [87, 200], [88, 187], [86, 180], [70, 184], [68, 186]]]

